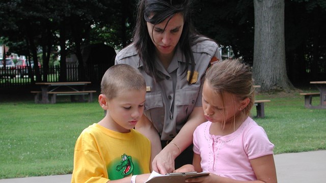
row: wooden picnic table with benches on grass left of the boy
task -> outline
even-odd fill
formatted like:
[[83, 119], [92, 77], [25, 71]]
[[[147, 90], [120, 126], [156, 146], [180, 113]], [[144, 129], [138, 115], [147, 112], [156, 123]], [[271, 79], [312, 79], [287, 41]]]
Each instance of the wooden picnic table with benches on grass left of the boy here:
[[[51, 103], [56, 103], [56, 95], [84, 95], [85, 87], [91, 82], [37, 82], [36, 85], [41, 87], [41, 101], [40, 103], [50, 103], [49, 94], [52, 94], [53, 98]], [[93, 93], [96, 91], [87, 91], [87, 93]], [[37, 92], [32, 92], [37, 93]], [[54, 99], [54, 100], [53, 100]]]

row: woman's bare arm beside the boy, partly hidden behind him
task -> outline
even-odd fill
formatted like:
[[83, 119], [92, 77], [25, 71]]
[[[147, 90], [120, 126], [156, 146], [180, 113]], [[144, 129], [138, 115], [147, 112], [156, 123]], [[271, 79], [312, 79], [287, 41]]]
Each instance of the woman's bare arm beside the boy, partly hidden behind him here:
[[[151, 141], [151, 161], [152, 164], [154, 157], [162, 150], [161, 141], [158, 135], [157, 130], [153, 126], [152, 122], [148, 120], [148, 118], [143, 114], [142, 118], [138, 121], [135, 126], [135, 130], [139, 131], [143, 135], [145, 135]], [[150, 170], [154, 167], [151, 167]]]

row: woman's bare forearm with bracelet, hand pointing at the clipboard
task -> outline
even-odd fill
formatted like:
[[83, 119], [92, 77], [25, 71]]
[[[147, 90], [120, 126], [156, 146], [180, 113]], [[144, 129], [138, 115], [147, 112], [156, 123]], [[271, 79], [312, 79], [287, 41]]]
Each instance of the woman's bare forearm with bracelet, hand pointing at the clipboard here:
[[[153, 170], [166, 174], [173, 172], [174, 160], [193, 141], [193, 133], [198, 125], [206, 121], [202, 107], [195, 107], [187, 122], [181, 128], [177, 136], [154, 158]], [[180, 149], [180, 151], [179, 151]]]

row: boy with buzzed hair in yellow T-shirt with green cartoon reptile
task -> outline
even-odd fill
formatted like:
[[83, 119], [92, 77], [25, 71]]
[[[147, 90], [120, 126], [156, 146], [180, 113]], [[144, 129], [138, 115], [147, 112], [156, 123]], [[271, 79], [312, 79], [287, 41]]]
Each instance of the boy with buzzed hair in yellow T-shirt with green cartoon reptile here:
[[71, 182], [145, 182], [150, 173], [150, 141], [133, 128], [142, 117], [146, 95], [143, 75], [131, 66], [109, 68], [98, 101], [107, 110], [86, 128], [74, 149]]

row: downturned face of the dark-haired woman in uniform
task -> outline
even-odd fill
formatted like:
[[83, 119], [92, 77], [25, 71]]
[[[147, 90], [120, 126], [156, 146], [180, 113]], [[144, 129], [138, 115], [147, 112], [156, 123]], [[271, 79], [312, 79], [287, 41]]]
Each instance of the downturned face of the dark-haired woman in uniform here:
[[147, 22], [149, 36], [156, 50], [161, 54], [173, 53], [183, 29], [183, 15], [181, 13], [175, 14], [169, 22], [168, 20], [169, 18], [156, 25]]

